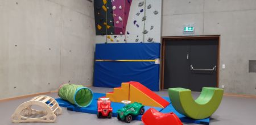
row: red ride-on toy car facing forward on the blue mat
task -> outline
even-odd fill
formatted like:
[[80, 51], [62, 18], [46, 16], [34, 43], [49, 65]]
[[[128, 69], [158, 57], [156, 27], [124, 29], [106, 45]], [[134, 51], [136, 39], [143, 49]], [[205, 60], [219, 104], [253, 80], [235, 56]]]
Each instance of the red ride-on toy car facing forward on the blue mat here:
[[98, 100], [98, 118], [112, 118], [112, 107], [110, 107], [111, 101], [109, 98], [100, 98]]

